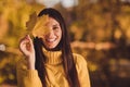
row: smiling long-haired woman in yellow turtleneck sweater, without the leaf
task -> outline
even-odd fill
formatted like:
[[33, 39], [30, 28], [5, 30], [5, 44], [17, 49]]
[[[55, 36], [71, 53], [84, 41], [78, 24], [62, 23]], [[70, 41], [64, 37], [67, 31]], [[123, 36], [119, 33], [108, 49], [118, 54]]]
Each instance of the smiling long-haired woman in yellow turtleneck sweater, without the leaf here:
[[[44, 9], [48, 32], [41, 37], [25, 36], [20, 49], [26, 57], [17, 62], [18, 87], [90, 87], [86, 60], [72, 52], [64, 18], [54, 9]], [[47, 29], [47, 28], [46, 28]]]

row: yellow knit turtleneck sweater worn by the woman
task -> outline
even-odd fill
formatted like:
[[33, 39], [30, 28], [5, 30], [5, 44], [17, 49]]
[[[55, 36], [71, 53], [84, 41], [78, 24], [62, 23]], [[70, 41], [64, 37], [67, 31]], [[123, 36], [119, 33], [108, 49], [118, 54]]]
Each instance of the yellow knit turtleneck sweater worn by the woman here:
[[[69, 87], [62, 65], [61, 51], [43, 50], [47, 57], [47, 87]], [[80, 87], [90, 87], [89, 73], [84, 58], [74, 53]], [[42, 87], [37, 70], [27, 70], [25, 59], [20, 59], [16, 65], [18, 87]]]

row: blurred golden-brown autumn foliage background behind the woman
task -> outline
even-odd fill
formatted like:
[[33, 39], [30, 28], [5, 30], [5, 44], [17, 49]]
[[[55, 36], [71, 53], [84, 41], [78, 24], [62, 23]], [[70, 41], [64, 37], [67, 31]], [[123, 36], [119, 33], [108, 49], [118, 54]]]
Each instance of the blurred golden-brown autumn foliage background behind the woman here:
[[130, 0], [0, 0], [0, 87], [17, 87], [18, 41], [34, 11], [55, 8], [92, 87], [130, 87]]

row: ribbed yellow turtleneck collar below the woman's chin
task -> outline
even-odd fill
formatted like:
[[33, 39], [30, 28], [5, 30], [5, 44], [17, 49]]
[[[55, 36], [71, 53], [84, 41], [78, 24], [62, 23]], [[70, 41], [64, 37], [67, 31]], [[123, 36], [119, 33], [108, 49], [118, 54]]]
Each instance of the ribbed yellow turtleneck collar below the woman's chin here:
[[62, 51], [49, 51], [42, 48], [43, 54], [47, 57], [47, 64], [60, 64], [62, 63]]

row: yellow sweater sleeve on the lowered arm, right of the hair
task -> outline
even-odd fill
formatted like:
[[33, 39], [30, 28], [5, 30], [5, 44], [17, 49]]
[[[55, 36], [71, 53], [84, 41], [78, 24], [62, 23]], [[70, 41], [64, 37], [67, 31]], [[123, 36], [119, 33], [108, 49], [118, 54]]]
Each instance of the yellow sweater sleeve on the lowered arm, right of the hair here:
[[76, 63], [80, 87], [90, 87], [90, 78], [87, 67], [87, 61], [80, 54], [75, 54], [74, 58], [75, 58], [74, 60]]

